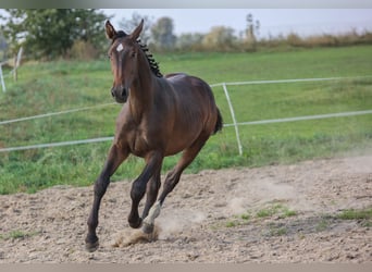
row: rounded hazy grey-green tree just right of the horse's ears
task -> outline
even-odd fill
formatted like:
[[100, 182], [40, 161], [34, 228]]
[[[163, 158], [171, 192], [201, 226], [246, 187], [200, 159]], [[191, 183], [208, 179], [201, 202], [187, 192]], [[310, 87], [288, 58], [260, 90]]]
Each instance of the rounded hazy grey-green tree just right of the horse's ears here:
[[152, 42], [157, 50], [173, 50], [176, 36], [173, 34], [173, 20], [161, 17], [151, 27]]

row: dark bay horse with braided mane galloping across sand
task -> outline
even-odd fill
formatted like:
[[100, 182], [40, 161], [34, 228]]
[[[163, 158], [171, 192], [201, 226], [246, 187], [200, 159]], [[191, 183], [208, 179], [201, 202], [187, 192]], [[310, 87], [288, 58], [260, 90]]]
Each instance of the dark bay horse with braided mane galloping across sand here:
[[[85, 239], [89, 251], [98, 248], [98, 212], [110, 177], [131, 153], [144, 158], [146, 166], [132, 185], [128, 223], [151, 233], [154, 219], [182, 172], [208, 138], [223, 126], [212, 90], [206, 82], [182, 73], [161, 75], [158, 63], [138, 40], [142, 26], [144, 20], [127, 35], [116, 32], [109, 21], [106, 23], [106, 34], [112, 41], [109, 50], [114, 77], [111, 94], [124, 106], [116, 120], [115, 137], [107, 161], [95, 183]], [[158, 198], [163, 158], [181, 151], [183, 154], [166, 175]], [[145, 194], [147, 198], [140, 218], [138, 205]]]

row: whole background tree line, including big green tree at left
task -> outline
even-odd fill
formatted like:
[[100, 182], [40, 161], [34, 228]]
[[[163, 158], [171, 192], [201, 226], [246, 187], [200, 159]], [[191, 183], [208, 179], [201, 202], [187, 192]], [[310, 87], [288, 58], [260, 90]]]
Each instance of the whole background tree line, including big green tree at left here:
[[[112, 16], [96, 9], [3, 10], [0, 15], [0, 50], [13, 55], [21, 46], [27, 58], [52, 60], [58, 58], [94, 59], [106, 54], [108, 40], [104, 22]], [[246, 15], [245, 30], [238, 35], [226, 26], [214, 26], [209, 33], [174, 34], [174, 22], [164, 16], [157, 21], [133, 13], [122, 18], [117, 28], [132, 32], [145, 18], [141, 42], [158, 52], [169, 51], [223, 51], [253, 52], [265, 48], [293, 48], [315, 46], [347, 46], [372, 44], [372, 34], [356, 30], [345, 35], [319, 35], [302, 38], [297, 34], [258, 39], [260, 21]]]

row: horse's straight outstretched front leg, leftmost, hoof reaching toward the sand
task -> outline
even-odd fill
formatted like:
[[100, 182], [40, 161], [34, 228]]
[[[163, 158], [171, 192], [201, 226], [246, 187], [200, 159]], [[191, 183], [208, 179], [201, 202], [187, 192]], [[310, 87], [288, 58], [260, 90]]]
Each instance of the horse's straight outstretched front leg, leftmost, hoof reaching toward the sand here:
[[95, 198], [90, 215], [88, 218], [88, 234], [85, 238], [88, 251], [95, 251], [98, 246], [98, 237], [96, 228], [98, 226], [98, 212], [101, 199], [110, 184], [110, 177], [116, 171], [117, 166], [127, 158], [128, 152], [120, 149], [116, 145], [112, 145], [104, 166], [95, 183]]

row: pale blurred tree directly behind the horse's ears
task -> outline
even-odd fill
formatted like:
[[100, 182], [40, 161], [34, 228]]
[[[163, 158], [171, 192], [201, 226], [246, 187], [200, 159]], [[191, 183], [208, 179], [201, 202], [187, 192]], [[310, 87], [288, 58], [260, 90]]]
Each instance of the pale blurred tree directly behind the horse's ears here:
[[125, 33], [132, 33], [133, 29], [135, 29], [139, 24], [140, 21], [144, 18], [144, 29], [139, 35], [139, 39], [141, 40], [142, 44], [148, 44], [150, 37], [151, 37], [151, 27], [152, 27], [152, 20], [147, 16], [147, 15], [140, 15], [137, 12], [134, 12], [132, 14], [132, 18], [122, 18], [120, 22], [120, 27], [124, 29]]

